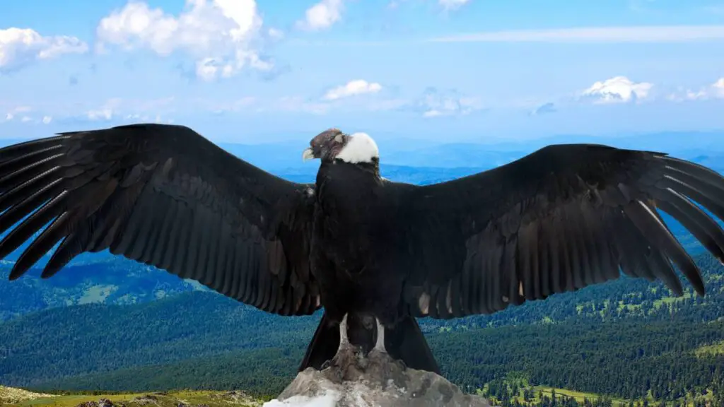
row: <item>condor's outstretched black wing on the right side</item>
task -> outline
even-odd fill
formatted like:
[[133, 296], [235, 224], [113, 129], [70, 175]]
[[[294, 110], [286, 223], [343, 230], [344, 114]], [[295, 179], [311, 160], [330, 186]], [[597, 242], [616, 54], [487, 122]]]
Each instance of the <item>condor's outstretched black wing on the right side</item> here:
[[[413, 188], [405, 300], [413, 314], [490, 314], [618, 278], [699, 295], [699, 269], [662, 222], [681, 222], [720, 261], [724, 178], [665, 154], [597, 145], [542, 148], [476, 175]], [[406, 209], [407, 210], [407, 209]]]

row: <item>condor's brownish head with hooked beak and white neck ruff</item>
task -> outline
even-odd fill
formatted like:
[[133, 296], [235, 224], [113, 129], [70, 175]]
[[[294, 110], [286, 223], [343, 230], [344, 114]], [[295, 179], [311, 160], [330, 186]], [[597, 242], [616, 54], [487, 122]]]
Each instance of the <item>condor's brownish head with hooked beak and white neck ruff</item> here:
[[311, 139], [309, 147], [302, 153], [302, 159], [339, 159], [351, 164], [377, 164], [379, 149], [366, 133], [348, 135], [338, 129], [329, 129]]

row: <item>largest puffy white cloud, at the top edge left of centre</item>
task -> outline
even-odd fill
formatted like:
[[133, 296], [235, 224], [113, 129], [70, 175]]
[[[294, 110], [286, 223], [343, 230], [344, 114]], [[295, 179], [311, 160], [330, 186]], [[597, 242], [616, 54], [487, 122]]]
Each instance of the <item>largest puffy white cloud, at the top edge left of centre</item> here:
[[263, 22], [254, 0], [186, 0], [178, 15], [130, 1], [96, 28], [101, 49], [148, 48], [161, 56], [182, 51], [196, 59], [203, 80], [230, 77], [245, 67], [271, 70], [256, 48]]

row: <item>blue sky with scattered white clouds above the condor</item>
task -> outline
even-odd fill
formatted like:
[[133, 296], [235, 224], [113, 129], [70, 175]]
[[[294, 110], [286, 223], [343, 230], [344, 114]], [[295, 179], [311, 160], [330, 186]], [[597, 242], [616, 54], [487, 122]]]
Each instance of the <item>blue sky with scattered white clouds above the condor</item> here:
[[724, 0], [4, 0], [0, 138], [724, 129]]

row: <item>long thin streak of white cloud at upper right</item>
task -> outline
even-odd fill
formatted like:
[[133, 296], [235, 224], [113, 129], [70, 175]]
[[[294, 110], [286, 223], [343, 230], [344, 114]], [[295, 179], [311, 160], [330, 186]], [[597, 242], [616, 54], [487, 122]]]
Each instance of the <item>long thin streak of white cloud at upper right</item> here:
[[433, 38], [434, 42], [676, 43], [724, 39], [724, 25], [508, 30]]

